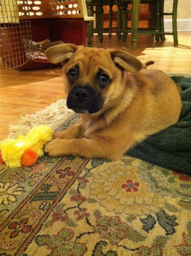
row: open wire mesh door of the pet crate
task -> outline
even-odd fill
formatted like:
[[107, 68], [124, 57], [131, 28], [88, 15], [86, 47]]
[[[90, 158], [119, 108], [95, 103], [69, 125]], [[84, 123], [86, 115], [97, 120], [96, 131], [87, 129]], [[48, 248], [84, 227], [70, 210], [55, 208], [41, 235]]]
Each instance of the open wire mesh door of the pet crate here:
[[16, 68], [32, 58], [30, 17], [19, 15], [18, 3], [0, 0], [0, 68]]

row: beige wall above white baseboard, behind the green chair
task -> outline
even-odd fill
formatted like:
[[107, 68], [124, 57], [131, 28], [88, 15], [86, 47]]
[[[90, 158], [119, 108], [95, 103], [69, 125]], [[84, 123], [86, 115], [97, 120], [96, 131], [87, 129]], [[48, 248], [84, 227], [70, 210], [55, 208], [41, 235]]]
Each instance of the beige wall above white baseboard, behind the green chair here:
[[[166, 0], [164, 2], [164, 11], [171, 12], [173, 1]], [[168, 19], [168, 16], [166, 18]], [[191, 0], [178, 0], [177, 19], [191, 19]]]

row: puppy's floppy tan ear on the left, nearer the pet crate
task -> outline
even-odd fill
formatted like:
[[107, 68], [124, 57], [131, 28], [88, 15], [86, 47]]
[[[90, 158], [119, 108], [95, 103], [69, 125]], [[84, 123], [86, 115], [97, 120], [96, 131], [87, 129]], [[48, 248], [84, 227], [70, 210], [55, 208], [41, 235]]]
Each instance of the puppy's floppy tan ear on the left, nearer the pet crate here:
[[61, 44], [48, 48], [45, 51], [45, 55], [50, 62], [56, 64], [66, 59], [71, 59], [74, 52], [77, 50], [77, 46], [73, 44]]

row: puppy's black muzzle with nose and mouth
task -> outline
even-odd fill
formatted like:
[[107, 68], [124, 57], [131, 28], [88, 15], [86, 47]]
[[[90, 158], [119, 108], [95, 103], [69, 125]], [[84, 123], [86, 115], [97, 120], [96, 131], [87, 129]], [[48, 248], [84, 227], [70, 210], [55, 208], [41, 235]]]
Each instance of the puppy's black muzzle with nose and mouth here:
[[74, 87], [68, 94], [66, 105], [76, 113], [91, 114], [102, 108], [103, 99], [91, 86]]

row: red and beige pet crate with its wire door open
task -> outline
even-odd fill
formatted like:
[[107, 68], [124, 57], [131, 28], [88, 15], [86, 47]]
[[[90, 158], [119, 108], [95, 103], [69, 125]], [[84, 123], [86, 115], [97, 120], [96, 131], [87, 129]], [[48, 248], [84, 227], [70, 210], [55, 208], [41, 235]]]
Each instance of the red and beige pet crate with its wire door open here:
[[0, 68], [58, 66], [46, 58], [42, 43], [84, 45], [93, 19], [85, 0], [0, 0]]

